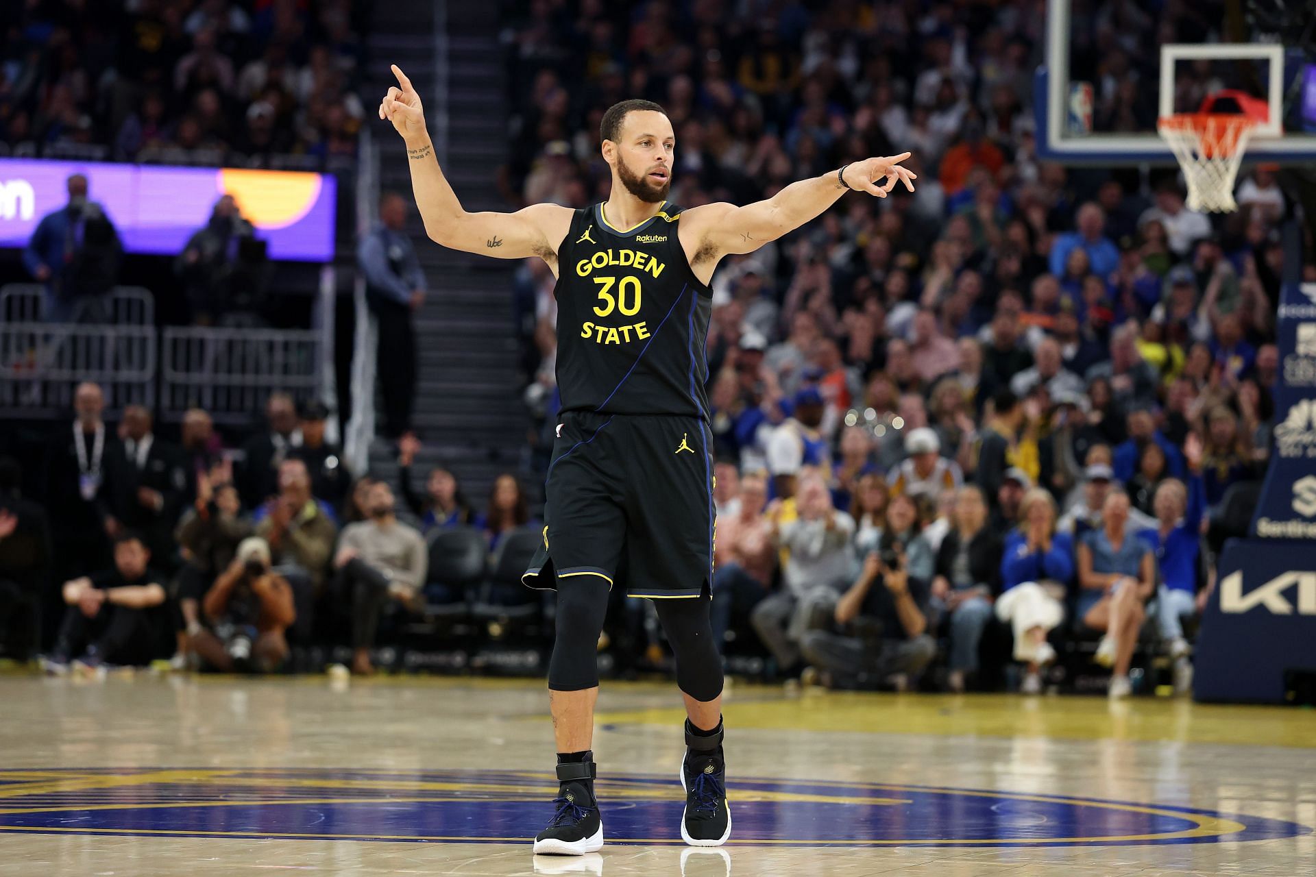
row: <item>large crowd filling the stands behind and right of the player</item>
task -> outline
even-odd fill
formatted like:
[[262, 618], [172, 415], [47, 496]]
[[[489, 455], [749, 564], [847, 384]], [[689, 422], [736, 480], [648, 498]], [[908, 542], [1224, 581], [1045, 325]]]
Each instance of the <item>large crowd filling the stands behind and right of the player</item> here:
[[[1038, 160], [1042, 3], [753, 7], [540, 0], [505, 32], [515, 205], [607, 199], [599, 121], [624, 97], [671, 118], [683, 206], [913, 154], [915, 193], [846, 196], [713, 276], [716, 628], [744, 615], [783, 671], [832, 685], [908, 685], [944, 652], [954, 690], [994, 627], [1029, 690], [1087, 634], [1123, 696], [1146, 627], [1184, 685], [1184, 621], [1213, 584], [1204, 521], [1270, 446], [1274, 170], [1208, 217], [1173, 172]], [[1123, 0], [1090, 7], [1099, 114], [1145, 96], [1116, 70], [1154, 57], [1129, 50], [1130, 14], [1142, 42], [1219, 25], [1211, 4], [1153, 24]], [[517, 302], [526, 400], [551, 425], [538, 260]]]

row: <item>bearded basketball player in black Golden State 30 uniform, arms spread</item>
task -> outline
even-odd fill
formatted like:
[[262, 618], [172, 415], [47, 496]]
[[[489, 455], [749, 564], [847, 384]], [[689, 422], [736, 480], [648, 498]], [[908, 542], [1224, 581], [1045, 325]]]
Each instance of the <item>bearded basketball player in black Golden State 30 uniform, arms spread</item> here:
[[[580, 210], [534, 204], [467, 213], [443, 178], [420, 96], [396, 66], [379, 105], [407, 142], [425, 231], [445, 247], [500, 259], [544, 259], [558, 283], [562, 413], [547, 472], [544, 539], [522, 580], [558, 592], [549, 706], [558, 748], [557, 814], [537, 853], [603, 845], [590, 751], [599, 696], [595, 646], [608, 592], [655, 600], [676, 656], [688, 721], [680, 835], [719, 847], [732, 831], [722, 760], [722, 672], [709, 626], [713, 557], [712, 435], [704, 344], [724, 255], [753, 252], [797, 229], [848, 191], [886, 195], [909, 153], [853, 162], [749, 206], [667, 201], [675, 155], [658, 104], [626, 100], [603, 117], [612, 193]], [[879, 184], [878, 180], [886, 178]]]

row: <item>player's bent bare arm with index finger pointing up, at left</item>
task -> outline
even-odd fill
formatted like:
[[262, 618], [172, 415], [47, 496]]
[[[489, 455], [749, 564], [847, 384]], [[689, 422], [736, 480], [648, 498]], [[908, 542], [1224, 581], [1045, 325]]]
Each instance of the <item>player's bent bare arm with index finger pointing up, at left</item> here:
[[554, 263], [558, 243], [571, 227], [571, 210], [557, 204], [534, 204], [516, 213], [463, 210], [438, 167], [420, 95], [397, 64], [392, 70], [397, 85], [390, 88], [380, 101], [379, 118], [392, 122], [407, 142], [412, 191], [430, 239], [453, 250], [499, 259], [540, 256]]

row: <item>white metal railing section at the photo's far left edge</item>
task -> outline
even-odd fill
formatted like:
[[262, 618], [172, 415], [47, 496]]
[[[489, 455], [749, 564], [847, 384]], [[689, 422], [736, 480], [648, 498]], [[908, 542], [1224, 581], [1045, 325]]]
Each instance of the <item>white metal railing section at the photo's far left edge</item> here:
[[72, 410], [82, 381], [100, 384], [112, 410], [155, 405], [155, 327], [0, 323], [0, 412], [46, 417]]

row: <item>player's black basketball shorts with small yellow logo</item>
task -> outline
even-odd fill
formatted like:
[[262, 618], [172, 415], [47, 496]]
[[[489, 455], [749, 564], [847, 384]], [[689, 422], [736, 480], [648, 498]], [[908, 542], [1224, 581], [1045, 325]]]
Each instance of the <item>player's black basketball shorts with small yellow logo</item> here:
[[709, 594], [713, 442], [704, 421], [565, 412], [558, 423], [547, 526], [521, 581], [555, 589], [599, 576], [630, 597]]

